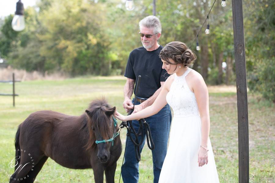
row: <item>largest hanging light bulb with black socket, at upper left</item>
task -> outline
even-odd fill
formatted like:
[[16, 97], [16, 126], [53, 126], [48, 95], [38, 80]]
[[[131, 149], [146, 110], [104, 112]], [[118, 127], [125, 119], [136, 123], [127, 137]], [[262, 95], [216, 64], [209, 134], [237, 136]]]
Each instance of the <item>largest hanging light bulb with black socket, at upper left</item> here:
[[15, 31], [21, 31], [25, 28], [24, 5], [21, 0], [16, 3], [16, 12], [13, 16], [12, 28]]

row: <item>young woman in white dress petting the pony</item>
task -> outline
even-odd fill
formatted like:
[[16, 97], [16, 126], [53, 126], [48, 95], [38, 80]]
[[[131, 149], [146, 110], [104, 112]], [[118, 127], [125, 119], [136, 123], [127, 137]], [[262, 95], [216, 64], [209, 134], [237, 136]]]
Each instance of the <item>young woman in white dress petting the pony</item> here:
[[170, 139], [159, 182], [217, 183], [218, 173], [209, 139], [208, 90], [203, 77], [188, 66], [196, 55], [185, 43], [173, 41], [160, 52], [162, 68], [171, 74], [155, 102], [129, 116], [116, 112], [119, 120], [152, 116], [167, 103], [174, 111]]

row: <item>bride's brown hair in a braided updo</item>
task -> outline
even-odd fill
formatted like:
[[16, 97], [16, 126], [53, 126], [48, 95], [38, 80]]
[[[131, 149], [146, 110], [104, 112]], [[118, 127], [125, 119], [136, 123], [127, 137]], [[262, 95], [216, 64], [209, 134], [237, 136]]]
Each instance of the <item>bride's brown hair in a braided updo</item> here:
[[196, 60], [196, 55], [193, 53], [183, 42], [172, 41], [165, 45], [160, 51], [160, 59], [171, 63], [169, 59], [174, 60], [176, 63], [183, 63], [184, 67], [188, 67], [193, 60]]

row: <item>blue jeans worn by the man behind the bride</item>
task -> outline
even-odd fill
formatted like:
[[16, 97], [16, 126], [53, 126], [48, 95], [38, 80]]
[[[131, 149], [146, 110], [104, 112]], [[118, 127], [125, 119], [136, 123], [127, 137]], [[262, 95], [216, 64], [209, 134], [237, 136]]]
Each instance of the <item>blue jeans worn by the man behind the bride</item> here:
[[[134, 103], [134, 99], [132, 103]], [[140, 102], [135, 103], [135, 105], [139, 104]], [[167, 152], [167, 142], [172, 120], [170, 106], [167, 104], [157, 114], [147, 117], [145, 120], [150, 126], [153, 142], [155, 144], [155, 149], [152, 150], [153, 172], [154, 183], [158, 183], [162, 164]], [[137, 120], [133, 120], [132, 124], [135, 128], [135, 131], [138, 132], [139, 122]], [[134, 135], [132, 136], [134, 138]], [[144, 134], [144, 136], [146, 135]], [[145, 139], [146, 138], [144, 137], [143, 143], [140, 146], [140, 152], [144, 146]], [[139, 163], [135, 156], [133, 142], [131, 142], [129, 137], [127, 137], [126, 140], [127, 146], [125, 151], [125, 158], [121, 167], [122, 179], [124, 183], [137, 183], [139, 177]], [[139, 135], [139, 140], [141, 140], [141, 135]]]

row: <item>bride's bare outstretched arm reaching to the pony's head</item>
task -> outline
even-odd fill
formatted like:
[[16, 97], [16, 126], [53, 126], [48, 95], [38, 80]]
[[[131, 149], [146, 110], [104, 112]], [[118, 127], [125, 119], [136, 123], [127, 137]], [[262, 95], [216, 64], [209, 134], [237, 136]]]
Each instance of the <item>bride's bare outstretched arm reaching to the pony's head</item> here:
[[168, 93], [168, 85], [170, 85], [169, 78], [167, 81], [165, 81], [160, 94], [157, 96], [155, 102], [151, 106], [148, 106], [145, 109], [129, 116], [123, 116], [122, 114], [116, 112], [115, 117], [122, 121], [129, 121], [149, 117], [158, 113], [167, 104], [166, 95]]

